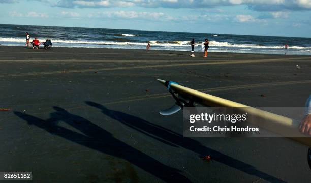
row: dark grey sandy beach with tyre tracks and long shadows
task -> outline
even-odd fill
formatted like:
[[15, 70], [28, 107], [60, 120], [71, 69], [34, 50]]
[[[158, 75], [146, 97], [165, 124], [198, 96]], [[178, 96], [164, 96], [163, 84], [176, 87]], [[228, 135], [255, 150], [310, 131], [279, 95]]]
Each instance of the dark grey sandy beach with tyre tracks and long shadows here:
[[288, 139], [183, 138], [182, 112], [159, 114], [174, 100], [157, 79], [254, 107], [302, 107], [311, 56], [190, 54], [0, 46], [0, 108], [12, 109], [0, 111], [0, 172], [33, 172], [34, 182], [310, 182], [308, 147]]

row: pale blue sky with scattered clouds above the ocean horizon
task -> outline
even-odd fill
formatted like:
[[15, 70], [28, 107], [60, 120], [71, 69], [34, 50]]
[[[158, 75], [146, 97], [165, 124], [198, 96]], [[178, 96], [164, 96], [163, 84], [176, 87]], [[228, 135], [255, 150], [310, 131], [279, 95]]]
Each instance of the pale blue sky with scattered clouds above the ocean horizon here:
[[311, 37], [311, 0], [0, 0], [0, 23]]

